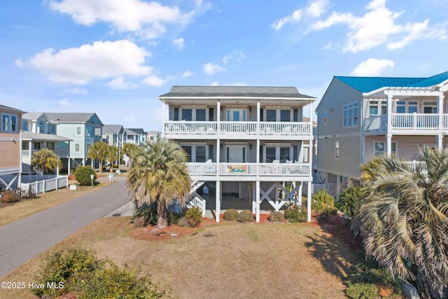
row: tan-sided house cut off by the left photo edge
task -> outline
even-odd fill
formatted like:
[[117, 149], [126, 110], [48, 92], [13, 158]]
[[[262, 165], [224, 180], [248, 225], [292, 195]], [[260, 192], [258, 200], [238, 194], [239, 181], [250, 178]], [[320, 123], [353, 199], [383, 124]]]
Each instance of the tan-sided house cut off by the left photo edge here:
[[20, 180], [20, 125], [22, 111], [0, 105], [0, 188]]

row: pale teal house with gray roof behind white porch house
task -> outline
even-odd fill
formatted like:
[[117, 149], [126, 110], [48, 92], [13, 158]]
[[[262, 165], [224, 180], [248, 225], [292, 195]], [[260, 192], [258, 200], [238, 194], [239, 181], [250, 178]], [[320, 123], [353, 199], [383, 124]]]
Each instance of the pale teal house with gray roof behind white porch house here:
[[[59, 136], [71, 139], [69, 158], [62, 159], [64, 165], [69, 163], [69, 169], [80, 165], [90, 165], [87, 158], [90, 146], [94, 142], [102, 141], [103, 123], [96, 113], [45, 113], [52, 123], [57, 125]], [[68, 161], [67, 161], [68, 160]]]

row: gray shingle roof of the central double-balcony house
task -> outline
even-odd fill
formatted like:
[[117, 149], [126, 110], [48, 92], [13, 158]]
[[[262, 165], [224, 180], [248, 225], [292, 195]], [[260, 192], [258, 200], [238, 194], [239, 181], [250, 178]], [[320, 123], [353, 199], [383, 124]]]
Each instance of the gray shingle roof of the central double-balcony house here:
[[166, 97], [260, 97], [314, 99], [302, 95], [295, 87], [273, 86], [179, 86], [174, 85]]

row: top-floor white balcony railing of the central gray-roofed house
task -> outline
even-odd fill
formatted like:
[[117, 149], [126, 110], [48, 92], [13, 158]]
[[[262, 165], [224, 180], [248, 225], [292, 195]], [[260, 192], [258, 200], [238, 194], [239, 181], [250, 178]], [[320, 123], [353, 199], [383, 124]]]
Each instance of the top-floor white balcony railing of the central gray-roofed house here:
[[256, 121], [167, 121], [162, 136], [169, 139], [309, 140], [310, 123]]

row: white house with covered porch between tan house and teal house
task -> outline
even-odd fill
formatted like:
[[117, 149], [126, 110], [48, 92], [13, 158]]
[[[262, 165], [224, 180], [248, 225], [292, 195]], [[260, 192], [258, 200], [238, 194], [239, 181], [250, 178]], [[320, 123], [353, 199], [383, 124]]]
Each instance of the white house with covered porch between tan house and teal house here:
[[53, 151], [62, 160], [62, 167], [69, 172], [70, 141], [69, 138], [57, 135], [57, 123], [45, 113], [25, 113], [22, 116], [22, 173], [33, 172], [31, 158], [43, 148]]

